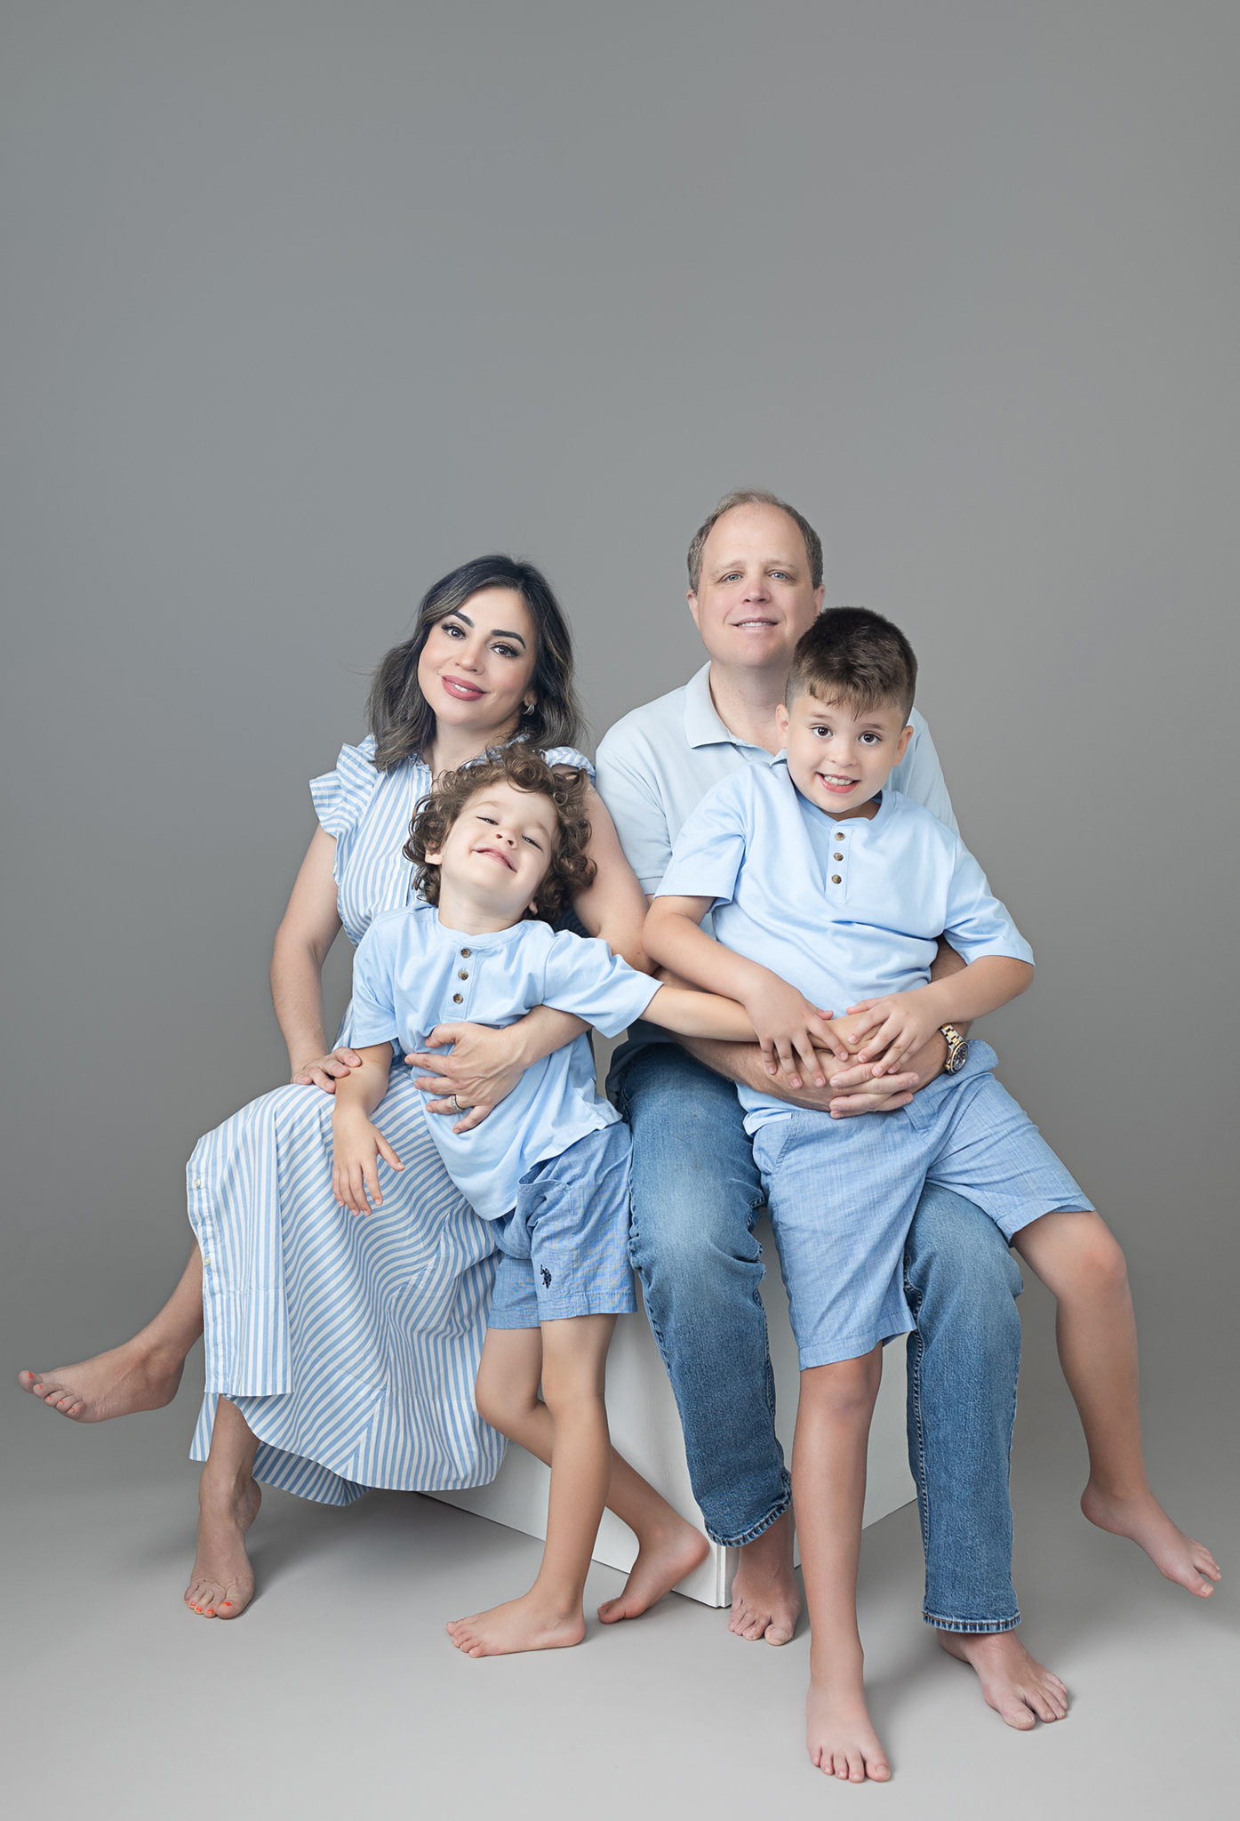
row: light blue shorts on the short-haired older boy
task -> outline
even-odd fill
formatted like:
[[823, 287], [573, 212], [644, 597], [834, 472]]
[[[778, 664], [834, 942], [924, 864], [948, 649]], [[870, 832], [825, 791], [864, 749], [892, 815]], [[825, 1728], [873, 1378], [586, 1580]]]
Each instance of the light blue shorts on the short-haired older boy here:
[[898, 1113], [794, 1113], [754, 1134], [801, 1371], [912, 1331], [905, 1238], [927, 1182], [974, 1202], [1005, 1240], [1042, 1215], [1093, 1211], [994, 1062], [974, 1040], [960, 1074]]

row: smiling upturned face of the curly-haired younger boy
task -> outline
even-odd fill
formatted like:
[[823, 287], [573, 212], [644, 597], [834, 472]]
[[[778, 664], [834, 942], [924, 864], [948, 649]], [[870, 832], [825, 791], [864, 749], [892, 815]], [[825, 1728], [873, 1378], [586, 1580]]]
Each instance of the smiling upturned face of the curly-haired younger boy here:
[[488, 929], [519, 923], [537, 898], [557, 841], [559, 816], [550, 798], [506, 781], [479, 790], [442, 849], [426, 856], [439, 867], [441, 921], [450, 929], [477, 918]]

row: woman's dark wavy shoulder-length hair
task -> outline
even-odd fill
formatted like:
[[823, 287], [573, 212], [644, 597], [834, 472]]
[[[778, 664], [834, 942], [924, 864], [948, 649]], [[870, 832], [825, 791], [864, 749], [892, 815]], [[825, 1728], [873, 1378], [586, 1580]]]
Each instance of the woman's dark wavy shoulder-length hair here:
[[441, 575], [422, 595], [413, 632], [393, 645], [370, 687], [366, 719], [375, 736], [373, 765], [390, 772], [435, 738], [435, 712], [417, 683], [417, 661], [430, 628], [455, 614], [483, 588], [512, 588], [530, 608], [535, 632], [534, 708], [523, 714], [517, 738], [532, 747], [579, 747], [581, 708], [572, 681], [572, 634], [546, 575], [534, 563], [506, 555], [475, 557]]

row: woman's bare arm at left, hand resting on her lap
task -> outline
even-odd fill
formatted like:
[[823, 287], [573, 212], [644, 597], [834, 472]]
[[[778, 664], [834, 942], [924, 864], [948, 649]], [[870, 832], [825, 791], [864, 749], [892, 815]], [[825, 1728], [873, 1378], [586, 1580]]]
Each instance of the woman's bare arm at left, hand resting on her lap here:
[[291, 1080], [328, 1094], [359, 1065], [355, 1049], [330, 1053], [322, 1029], [322, 963], [340, 932], [333, 867], [335, 836], [315, 829], [271, 949], [271, 1002]]

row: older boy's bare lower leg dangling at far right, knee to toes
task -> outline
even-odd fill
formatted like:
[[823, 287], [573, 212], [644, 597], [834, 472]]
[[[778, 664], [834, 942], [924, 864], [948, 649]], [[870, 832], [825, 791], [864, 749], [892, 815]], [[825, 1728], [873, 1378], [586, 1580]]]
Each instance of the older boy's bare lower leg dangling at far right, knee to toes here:
[[1171, 1522], [1149, 1490], [1142, 1451], [1136, 1317], [1123, 1253], [1100, 1215], [1043, 1215], [1012, 1240], [1058, 1298], [1060, 1364], [1089, 1444], [1082, 1511], [1140, 1544], [1167, 1581], [1207, 1599], [1211, 1551]]

